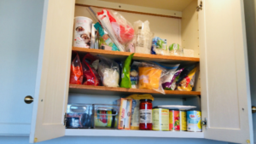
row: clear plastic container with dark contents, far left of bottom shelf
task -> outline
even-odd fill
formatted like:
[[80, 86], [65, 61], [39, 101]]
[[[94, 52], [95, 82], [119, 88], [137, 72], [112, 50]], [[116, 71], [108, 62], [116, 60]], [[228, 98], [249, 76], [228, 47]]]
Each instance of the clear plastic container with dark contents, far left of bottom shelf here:
[[67, 105], [67, 129], [92, 129], [93, 107], [89, 104]]

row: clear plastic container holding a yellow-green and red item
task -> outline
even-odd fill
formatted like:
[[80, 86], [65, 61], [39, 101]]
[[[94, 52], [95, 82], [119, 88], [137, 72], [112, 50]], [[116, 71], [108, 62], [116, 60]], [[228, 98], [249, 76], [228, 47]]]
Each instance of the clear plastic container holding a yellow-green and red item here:
[[117, 129], [119, 106], [94, 104], [94, 128], [95, 129]]

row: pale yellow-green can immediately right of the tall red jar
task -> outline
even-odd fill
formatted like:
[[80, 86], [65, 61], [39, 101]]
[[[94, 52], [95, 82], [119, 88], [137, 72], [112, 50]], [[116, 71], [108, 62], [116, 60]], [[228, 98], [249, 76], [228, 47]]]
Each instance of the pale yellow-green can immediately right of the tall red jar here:
[[169, 130], [169, 110], [164, 108], [153, 109], [153, 128], [152, 130]]

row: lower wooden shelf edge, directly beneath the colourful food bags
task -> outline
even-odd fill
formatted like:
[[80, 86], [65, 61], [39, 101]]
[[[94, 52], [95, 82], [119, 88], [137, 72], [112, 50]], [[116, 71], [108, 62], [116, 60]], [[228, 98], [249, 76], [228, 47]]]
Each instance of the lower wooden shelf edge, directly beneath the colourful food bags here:
[[105, 86], [92, 86], [83, 84], [70, 84], [70, 93], [80, 93], [88, 95], [131, 95], [131, 94], [152, 94], [157, 96], [196, 96], [201, 95], [200, 91], [178, 91], [178, 90], [165, 90], [166, 95], [161, 94], [151, 89], [126, 89], [126, 88], [112, 88]]

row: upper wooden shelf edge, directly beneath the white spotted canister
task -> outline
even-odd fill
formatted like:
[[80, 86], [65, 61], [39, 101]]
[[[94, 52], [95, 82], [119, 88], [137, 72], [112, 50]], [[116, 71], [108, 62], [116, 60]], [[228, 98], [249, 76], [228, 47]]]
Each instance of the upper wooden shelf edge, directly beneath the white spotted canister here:
[[[131, 55], [129, 52], [102, 50], [102, 49], [85, 49], [73, 47], [73, 50], [79, 52], [90, 53], [91, 55], [103, 55], [113, 60], [125, 60], [127, 56]], [[180, 64], [194, 64], [199, 62], [199, 58], [184, 57], [184, 56], [168, 56], [168, 55], [148, 55], [138, 54], [133, 55], [133, 60], [148, 60], [157, 62], [180, 63]]]

